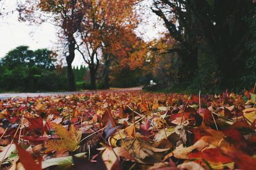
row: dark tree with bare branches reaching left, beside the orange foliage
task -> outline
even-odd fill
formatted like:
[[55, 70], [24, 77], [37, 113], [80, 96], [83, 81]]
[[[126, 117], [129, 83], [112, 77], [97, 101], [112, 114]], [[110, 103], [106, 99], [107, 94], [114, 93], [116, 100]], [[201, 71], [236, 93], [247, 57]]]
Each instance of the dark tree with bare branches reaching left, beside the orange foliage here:
[[175, 48], [168, 52], [177, 52], [182, 60], [180, 77], [182, 81], [191, 81], [197, 70], [196, 20], [186, 8], [186, 1], [154, 0], [152, 11], [163, 19], [170, 35], [177, 41]]

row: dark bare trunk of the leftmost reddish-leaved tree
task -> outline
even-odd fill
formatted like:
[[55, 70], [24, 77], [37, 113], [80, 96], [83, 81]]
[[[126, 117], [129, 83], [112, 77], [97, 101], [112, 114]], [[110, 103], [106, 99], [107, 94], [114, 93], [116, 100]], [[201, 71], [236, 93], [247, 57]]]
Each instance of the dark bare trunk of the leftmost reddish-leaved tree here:
[[74, 58], [75, 58], [75, 49], [76, 49], [76, 40], [74, 39], [74, 37], [72, 37], [70, 38], [70, 40], [68, 40], [68, 56], [66, 57], [66, 61], [68, 65], [67, 76], [68, 76], [69, 91], [76, 90], [75, 77], [72, 70], [72, 62], [74, 61]]

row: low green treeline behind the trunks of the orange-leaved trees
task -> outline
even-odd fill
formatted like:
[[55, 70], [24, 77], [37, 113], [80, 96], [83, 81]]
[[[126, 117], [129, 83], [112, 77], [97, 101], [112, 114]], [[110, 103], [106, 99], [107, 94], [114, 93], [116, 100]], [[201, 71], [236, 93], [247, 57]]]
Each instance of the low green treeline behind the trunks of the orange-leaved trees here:
[[[74, 66], [72, 70], [76, 89], [90, 89], [88, 68]], [[142, 72], [139, 68], [113, 72], [111, 86], [126, 88], [146, 83], [150, 78], [145, 80]], [[56, 54], [51, 50], [19, 46], [0, 59], [0, 91], [66, 91], [67, 81], [67, 67], [56, 65]], [[102, 79], [97, 80], [97, 88], [104, 88]]]

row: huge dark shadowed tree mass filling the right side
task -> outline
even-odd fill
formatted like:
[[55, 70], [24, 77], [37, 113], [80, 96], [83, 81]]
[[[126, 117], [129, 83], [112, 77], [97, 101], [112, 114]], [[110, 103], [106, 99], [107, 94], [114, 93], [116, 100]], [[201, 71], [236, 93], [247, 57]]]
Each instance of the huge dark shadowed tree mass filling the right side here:
[[213, 79], [220, 88], [228, 88], [237, 86], [245, 68], [249, 27], [243, 18], [253, 6], [250, 0], [154, 0], [152, 10], [179, 43], [169, 51], [178, 52], [186, 76], [193, 77], [202, 68], [198, 59], [205, 58], [207, 65], [216, 64], [209, 71], [216, 74]]

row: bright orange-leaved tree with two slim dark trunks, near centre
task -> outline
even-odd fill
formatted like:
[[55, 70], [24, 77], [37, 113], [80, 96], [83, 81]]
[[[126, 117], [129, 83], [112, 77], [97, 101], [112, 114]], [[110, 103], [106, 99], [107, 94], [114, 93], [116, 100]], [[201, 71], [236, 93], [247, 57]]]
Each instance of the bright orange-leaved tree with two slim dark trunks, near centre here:
[[[127, 56], [131, 47], [125, 47], [131, 43], [136, 43], [138, 38], [132, 32], [138, 24], [136, 15], [134, 15], [134, 4], [138, 0], [127, 1], [92, 1], [90, 9], [84, 16], [84, 22], [81, 25], [81, 39], [86, 46], [86, 55], [80, 50], [84, 61], [88, 64], [90, 70], [91, 88], [96, 88], [97, 70], [101, 61], [104, 63], [105, 88], [109, 88], [109, 67], [113, 58], [119, 58], [120, 54]], [[78, 45], [80, 46], [80, 45]], [[136, 45], [135, 45], [136, 46]], [[127, 52], [125, 52], [125, 50]], [[118, 52], [117, 52], [118, 51]], [[124, 56], [122, 56], [124, 57]]]

